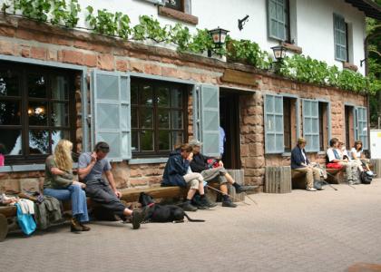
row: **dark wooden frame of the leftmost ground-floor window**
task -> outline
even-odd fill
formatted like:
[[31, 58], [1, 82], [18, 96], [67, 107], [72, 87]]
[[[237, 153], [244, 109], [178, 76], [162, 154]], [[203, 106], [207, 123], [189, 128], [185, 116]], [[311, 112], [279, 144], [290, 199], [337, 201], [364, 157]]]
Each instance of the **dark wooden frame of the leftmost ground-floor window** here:
[[[70, 141], [73, 142], [73, 152], [76, 152], [76, 118], [77, 118], [77, 111], [76, 111], [76, 102], [75, 102], [75, 73], [77, 71], [71, 70], [69, 67], [54, 67], [54, 70], [52, 70], [52, 67], [50, 65], [44, 65], [39, 63], [21, 63], [21, 62], [15, 62], [13, 59], [7, 60], [0, 58], [0, 63], [2, 64], [2, 69], [11, 69], [13, 71], [17, 71], [19, 74], [18, 78], [18, 89], [19, 89], [19, 96], [18, 100], [20, 101], [21, 107], [20, 107], [20, 125], [1, 125], [2, 129], [0, 131], [6, 131], [9, 129], [17, 129], [21, 130], [21, 139], [22, 139], [22, 147], [21, 150], [23, 151], [22, 155], [5, 155], [5, 165], [19, 165], [19, 164], [29, 164], [31, 162], [33, 163], [44, 163], [44, 160], [47, 156], [49, 156], [51, 153], [53, 153], [53, 145], [52, 145], [52, 135], [49, 133], [49, 150], [46, 154], [30, 154], [28, 151], [28, 145], [29, 145], [29, 131], [32, 129], [36, 130], [46, 130], [46, 131], [53, 131], [55, 130], [62, 130], [62, 131], [68, 131], [70, 135]], [[44, 98], [29, 98], [28, 97], [28, 86], [27, 86], [27, 76], [30, 73], [44, 73], [46, 76], [46, 96]], [[69, 93], [68, 98], [66, 100], [57, 100], [52, 98], [52, 78], [54, 75], [64, 75], [66, 79], [68, 80], [69, 84]], [[15, 101], [15, 96], [12, 97], [5, 97], [0, 96], [0, 100], [2, 101]], [[29, 102], [46, 102], [46, 112], [47, 112], [47, 125], [29, 125], [28, 116], [27, 116], [27, 109]], [[54, 102], [67, 102], [68, 103], [68, 125], [67, 126], [54, 126], [51, 125], [50, 122], [50, 116], [51, 116], [51, 105]]]

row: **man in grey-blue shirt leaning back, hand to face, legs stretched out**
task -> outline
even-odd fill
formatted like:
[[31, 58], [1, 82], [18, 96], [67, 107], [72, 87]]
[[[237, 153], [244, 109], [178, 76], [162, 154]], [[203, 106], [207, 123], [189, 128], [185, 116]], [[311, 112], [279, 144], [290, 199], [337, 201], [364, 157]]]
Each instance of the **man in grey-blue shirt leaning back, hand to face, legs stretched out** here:
[[[95, 144], [93, 152], [82, 153], [78, 159], [78, 175], [86, 184], [87, 195], [97, 204], [105, 209], [109, 209], [122, 219], [132, 217], [132, 228], [141, 227], [145, 216], [145, 210], [128, 209], [121, 202], [122, 194], [115, 187], [112, 176], [112, 167], [106, 159], [110, 151], [110, 146], [100, 141]], [[103, 179], [103, 173], [106, 180]]]

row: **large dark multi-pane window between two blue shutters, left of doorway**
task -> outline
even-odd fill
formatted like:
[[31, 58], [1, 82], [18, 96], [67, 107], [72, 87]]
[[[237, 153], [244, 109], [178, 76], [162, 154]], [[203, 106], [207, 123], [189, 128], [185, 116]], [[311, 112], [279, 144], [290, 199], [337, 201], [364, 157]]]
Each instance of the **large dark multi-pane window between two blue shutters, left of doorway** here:
[[168, 155], [187, 139], [187, 91], [176, 83], [132, 79], [132, 152]]

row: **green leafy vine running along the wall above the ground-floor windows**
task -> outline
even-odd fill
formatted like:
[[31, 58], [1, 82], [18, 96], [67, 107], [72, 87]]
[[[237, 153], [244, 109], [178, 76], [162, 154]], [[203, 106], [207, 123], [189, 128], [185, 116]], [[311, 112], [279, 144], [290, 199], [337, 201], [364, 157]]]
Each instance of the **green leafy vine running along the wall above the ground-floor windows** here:
[[[11, 0], [5, 1], [1, 10], [4, 14], [24, 15], [39, 22], [64, 25], [74, 28], [78, 24], [81, 6], [78, 0]], [[253, 65], [261, 70], [272, 68], [272, 58], [262, 51], [259, 44], [249, 40], [234, 40], [227, 37], [225, 47], [215, 48], [207, 29], [197, 29], [190, 34], [190, 29], [182, 24], [164, 25], [148, 15], [139, 17], [139, 24], [131, 25], [128, 15], [112, 13], [106, 9], [94, 13], [92, 6], [87, 6], [86, 23], [88, 30], [122, 38], [123, 40], [176, 44], [180, 52], [205, 53], [213, 50], [230, 60]], [[309, 56], [295, 54], [286, 57], [277, 71], [284, 77], [301, 83], [314, 83], [321, 86], [334, 86], [353, 92], [381, 92], [381, 83], [373, 78], [349, 70], [340, 71], [337, 66], [314, 60]]]

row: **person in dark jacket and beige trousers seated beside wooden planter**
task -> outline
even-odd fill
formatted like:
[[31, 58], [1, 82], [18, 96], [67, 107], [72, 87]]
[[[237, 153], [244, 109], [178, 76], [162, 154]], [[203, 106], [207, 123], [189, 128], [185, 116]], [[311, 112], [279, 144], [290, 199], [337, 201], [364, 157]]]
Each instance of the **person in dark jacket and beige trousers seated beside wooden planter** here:
[[306, 189], [309, 191], [316, 191], [314, 187], [314, 180], [318, 189], [324, 189], [320, 183], [320, 171], [318, 168], [313, 167], [307, 158], [305, 147], [307, 141], [304, 138], [299, 138], [297, 146], [291, 151], [291, 176], [297, 177], [300, 174], [305, 175]]

